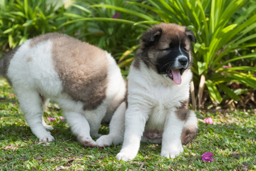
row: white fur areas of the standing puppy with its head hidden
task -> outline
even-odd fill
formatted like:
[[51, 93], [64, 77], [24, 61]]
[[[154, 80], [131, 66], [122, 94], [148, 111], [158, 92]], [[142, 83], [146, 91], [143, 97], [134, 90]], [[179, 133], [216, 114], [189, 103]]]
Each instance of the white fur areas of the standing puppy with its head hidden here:
[[[114, 108], [126, 93], [126, 85], [121, 76], [120, 68], [116, 65], [110, 54], [108, 59], [108, 86], [106, 99], [95, 110], [83, 110], [83, 103], [74, 101], [63, 93], [63, 86], [58, 73], [53, 67], [51, 56], [52, 42], [43, 41], [31, 47], [30, 41], [26, 41], [11, 59], [7, 76], [19, 99], [20, 108], [24, 113], [26, 122], [32, 132], [40, 141], [50, 142], [54, 138], [46, 129], [51, 130], [42, 120], [43, 107], [39, 93], [46, 98], [56, 101], [63, 110], [72, 132], [84, 145], [95, 146], [96, 142], [91, 136], [98, 137], [98, 128], [101, 120], [111, 118]], [[112, 112], [112, 113], [111, 113]], [[121, 112], [124, 113], [122, 110]]]

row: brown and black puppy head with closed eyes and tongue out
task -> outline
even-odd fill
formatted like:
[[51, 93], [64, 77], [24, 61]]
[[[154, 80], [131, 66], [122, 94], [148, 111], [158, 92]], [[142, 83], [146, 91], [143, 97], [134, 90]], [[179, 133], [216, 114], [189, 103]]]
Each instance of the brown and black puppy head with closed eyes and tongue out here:
[[191, 41], [196, 41], [195, 36], [185, 26], [158, 24], [142, 36], [138, 56], [149, 68], [180, 84], [193, 62]]

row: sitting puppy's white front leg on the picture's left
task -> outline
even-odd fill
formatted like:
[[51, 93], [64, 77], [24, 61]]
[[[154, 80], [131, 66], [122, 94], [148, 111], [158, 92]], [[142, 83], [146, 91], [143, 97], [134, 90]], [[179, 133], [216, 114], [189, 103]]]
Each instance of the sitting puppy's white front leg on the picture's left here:
[[[135, 104], [136, 106], [137, 104]], [[126, 129], [123, 140], [123, 147], [116, 155], [118, 160], [133, 160], [140, 147], [140, 139], [143, 135], [145, 123], [148, 120], [148, 110], [133, 108], [129, 104], [126, 110]]]

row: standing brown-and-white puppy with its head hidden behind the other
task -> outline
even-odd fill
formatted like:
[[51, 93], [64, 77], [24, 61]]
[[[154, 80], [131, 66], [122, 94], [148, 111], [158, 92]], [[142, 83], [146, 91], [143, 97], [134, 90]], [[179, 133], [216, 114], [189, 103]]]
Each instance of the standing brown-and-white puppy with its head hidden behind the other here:
[[[106, 51], [59, 33], [29, 39], [0, 61], [0, 75], [14, 88], [34, 135], [54, 140], [43, 120], [48, 100], [58, 103], [71, 130], [85, 146], [96, 146], [101, 122], [124, 115], [126, 83]], [[120, 143], [120, 142], [119, 142]]]

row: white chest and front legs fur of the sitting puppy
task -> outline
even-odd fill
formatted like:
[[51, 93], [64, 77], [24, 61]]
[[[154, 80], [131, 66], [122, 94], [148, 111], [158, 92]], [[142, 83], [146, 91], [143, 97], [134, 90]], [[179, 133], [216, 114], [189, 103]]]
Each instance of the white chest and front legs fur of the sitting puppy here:
[[140, 63], [140, 70], [131, 66], [126, 131], [121, 152], [116, 155], [118, 160], [132, 160], [137, 155], [144, 129], [163, 130], [162, 156], [175, 157], [183, 152], [180, 134], [184, 121], [177, 118], [175, 108], [188, 100], [191, 78], [192, 73], [186, 70], [182, 83], [176, 85], [144, 63]]

